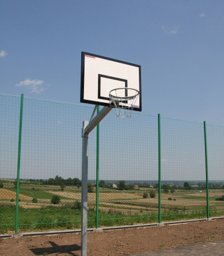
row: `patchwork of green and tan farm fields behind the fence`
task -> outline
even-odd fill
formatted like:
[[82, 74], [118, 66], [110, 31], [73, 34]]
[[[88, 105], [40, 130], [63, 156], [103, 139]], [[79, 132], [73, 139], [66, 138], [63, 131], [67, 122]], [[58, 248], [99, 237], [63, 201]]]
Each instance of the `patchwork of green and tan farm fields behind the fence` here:
[[[155, 192], [155, 197], [143, 198], [144, 193]], [[209, 190], [211, 216], [223, 216], [224, 203], [216, 199], [222, 189]], [[60, 202], [52, 203], [53, 196]], [[206, 218], [206, 190], [176, 189], [161, 193], [162, 221]], [[80, 228], [81, 187], [21, 184], [19, 194], [18, 227], [22, 231]], [[35, 200], [34, 200], [35, 199]], [[0, 189], [0, 231], [15, 229], [16, 188], [12, 182]], [[158, 222], [158, 190], [135, 188], [118, 190], [99, 188], [99, 225], [133, 225]], [[88, 193], [88, 227], [96, 225], [96, 188]]]

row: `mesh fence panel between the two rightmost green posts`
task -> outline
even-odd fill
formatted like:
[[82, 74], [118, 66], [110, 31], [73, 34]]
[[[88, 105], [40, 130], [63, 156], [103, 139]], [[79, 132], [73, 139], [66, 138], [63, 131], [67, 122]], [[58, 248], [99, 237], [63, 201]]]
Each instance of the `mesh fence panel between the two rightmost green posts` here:
[[161, 118], [162, 221], [206, 217], [204, 126]]

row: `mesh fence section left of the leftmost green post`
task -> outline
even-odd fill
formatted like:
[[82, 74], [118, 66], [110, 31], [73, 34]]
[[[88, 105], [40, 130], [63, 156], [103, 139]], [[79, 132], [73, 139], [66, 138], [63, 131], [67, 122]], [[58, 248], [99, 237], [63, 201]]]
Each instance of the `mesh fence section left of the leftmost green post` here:
[[20, 124], [20, 97], [0, 94], [0, 227], [15, 228], [16, 186], [18, 158], [18, 130]]

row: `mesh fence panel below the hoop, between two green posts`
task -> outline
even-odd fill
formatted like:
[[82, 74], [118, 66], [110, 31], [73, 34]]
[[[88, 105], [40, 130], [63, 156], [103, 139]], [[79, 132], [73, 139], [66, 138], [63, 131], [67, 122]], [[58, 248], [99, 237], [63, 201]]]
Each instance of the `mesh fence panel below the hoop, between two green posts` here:
[[157, 129], [157, 117], [138, 113], [100, 123], [99, 225], [156, 222]]

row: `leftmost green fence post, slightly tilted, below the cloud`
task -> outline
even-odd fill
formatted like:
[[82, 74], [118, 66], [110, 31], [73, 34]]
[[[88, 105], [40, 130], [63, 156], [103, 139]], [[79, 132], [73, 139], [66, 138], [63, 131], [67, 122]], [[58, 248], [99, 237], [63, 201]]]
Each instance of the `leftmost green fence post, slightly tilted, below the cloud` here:
[[21, 136], [22, 136], [22, 108], [24, 106], [24, 94], [21, 94], [20, 103], [20, 130], [18, 133], [18, 162], [17, 162], [17, 182], [16, 182], [16, 228], [15, 233], [18, 232], [18, 199], [20, 194], [20, 155], [21, 155]]

